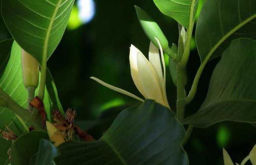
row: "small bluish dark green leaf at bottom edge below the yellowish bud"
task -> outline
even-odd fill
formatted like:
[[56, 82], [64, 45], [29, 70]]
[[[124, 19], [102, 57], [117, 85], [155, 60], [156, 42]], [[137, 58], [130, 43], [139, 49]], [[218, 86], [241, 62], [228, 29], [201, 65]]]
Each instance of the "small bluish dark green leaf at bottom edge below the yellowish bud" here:
[[[41, 139], [38, 153], [32, 156], [29, 165], [55, 165], [53, 158], [59, 155], [59, 151], [49, 140]], [[35, 160], [34, 157], [36, 158]], [[35, 161], [35, 162], [33, 162]]]

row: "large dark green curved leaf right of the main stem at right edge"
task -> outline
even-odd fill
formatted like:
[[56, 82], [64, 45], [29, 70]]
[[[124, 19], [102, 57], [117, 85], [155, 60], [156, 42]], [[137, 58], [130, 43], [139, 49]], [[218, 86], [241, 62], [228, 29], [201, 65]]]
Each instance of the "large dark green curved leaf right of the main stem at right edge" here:
[[231, 42], [215, 67], [201, 108], [183, 121], [207, 127], [222, 121], [256, 123], [256, 41]]

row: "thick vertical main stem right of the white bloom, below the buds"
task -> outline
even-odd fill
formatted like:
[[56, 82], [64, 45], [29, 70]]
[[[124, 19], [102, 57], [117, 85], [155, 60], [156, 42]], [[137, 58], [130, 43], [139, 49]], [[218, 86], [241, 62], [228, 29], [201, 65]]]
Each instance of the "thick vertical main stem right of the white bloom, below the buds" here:
[[186, 107], [186, 92], [185, 84], [186, 81], [186, 69], [180, 67], [177, 64], [177, 119], [182, 120], [184, 118], [185, 107]]

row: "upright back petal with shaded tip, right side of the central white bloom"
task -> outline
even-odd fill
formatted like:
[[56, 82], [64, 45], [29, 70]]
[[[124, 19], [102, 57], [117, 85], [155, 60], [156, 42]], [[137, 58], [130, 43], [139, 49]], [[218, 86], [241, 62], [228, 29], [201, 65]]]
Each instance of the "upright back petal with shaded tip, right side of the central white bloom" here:
[[163, 71], [160, 62], [159, 49], [156, 46], [154, 46], [154, 43], [152, 42], [150, 42], [149, 45], [148, 60], [155, 69], [160, 84], [160, 88], [161, 90], [163, 90]]

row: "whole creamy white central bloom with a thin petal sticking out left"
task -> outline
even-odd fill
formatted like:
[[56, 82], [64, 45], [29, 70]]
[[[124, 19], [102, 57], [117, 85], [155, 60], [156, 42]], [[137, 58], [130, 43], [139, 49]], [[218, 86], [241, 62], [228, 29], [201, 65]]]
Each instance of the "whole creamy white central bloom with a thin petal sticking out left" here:
[[[156, 39], [157, 40], [157, 39]], [[149, 46], [148, 58], [145, 58], [142, 52], [135, 46], [130, 47], [130, 67], [131, 77], [134, 81], [135, 86], [140, 93], [148, 99], [155, 100], [156, 102], [169, 107], [166, 97], [166, 68], [163, 58], [163, 49], [160, 42], [157, 40], [160, 47], [161, 58], [159, 50], [151, 42]], [[162, 64], [161, 64], [162, 63]], [[162, 66], [163, 65], [163, 66]], [[163, 67], [163, 69], [162, 69]], [[136, 98], [137, 100], [143, 101], [143, 99], [117, 87], [113, 87], [98, 78], [91, 77], [93, 80], [100, 84], [108, 87], [117, 92]]]

